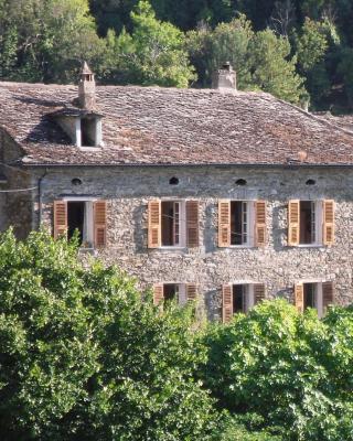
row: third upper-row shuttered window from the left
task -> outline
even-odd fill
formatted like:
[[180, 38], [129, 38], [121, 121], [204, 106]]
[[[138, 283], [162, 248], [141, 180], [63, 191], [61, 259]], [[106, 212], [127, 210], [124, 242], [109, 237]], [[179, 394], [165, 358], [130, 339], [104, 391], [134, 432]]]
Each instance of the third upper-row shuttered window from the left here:
[[218, 246], [265, 246], [267, 238], [265, 201], [218, 202]]

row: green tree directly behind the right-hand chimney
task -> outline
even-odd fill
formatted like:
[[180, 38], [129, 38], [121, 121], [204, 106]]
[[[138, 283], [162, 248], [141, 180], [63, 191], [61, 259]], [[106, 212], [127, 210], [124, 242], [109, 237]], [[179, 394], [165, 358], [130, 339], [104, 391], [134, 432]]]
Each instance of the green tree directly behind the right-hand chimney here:
[[296, 104], [306, 96], [289, 41], [270, 30], [254, 32], [244, 15], [213, 31], [202, 28], [189, 33], [188, 45], [203, 86], [210, 86], [212, 73], [229, 61], [239, 89], [260, 89]]

